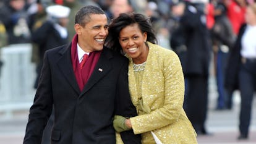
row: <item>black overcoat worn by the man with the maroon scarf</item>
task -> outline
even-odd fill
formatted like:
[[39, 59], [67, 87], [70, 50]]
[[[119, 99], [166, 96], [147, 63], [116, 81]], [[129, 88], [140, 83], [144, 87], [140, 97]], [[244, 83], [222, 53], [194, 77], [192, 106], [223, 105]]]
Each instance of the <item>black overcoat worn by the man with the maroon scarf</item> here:
[[52, 144], [114, 144], [114, 114], [137, 115], [129, 96], [126, 57], [103, 48], [95, 70], [80, 92], [70, 45], [46, 51], [23, 144], [41, 143], [53, 105]]

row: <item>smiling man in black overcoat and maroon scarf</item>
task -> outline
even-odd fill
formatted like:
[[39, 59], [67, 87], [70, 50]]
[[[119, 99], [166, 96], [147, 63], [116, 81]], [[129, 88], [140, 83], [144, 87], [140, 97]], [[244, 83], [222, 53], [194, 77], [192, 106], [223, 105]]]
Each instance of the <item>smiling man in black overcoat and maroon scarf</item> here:
[[[127, 86], [127, 59], [103, 46], [108, 35], [105, 12], [82, 7], [74, 28], [72, 43], [45, 53], [23, 144], [41, 143], [53, 105], [51, 143], [59, 144], [116, 143], [114, 114], [137, 115]], [[86, 61], [83, 54], [88, 54]], [[132, 131], [122, 138], [140, 143]]]

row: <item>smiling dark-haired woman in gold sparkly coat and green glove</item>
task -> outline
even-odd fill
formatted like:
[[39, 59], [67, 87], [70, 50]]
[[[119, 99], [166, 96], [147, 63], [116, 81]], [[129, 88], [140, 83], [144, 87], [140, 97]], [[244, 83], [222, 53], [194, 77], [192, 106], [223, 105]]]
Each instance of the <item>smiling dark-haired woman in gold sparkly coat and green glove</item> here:
[[[196, 133], [182, 108], [184, 77], [177, 55], [156, 43], [150, 20], [142, 14], [120, 14], [109, 25], [106, 45], [129, 59], [129, 90], [138, 116], [116, 116], [117, 132], [142, 133], [142, 143], [197, 143]], [[119, 124], [119, 125], [118, 125]], [[125, 124], [125, 125], [123, 125]], [[117, 143], [121, 143], [117, 137]]]

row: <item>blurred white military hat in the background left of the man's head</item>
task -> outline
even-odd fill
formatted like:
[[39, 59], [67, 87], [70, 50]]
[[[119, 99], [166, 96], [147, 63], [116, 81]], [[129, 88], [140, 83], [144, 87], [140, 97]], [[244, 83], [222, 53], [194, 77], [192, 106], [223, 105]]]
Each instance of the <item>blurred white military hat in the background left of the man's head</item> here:
[[69, 17], [70, 8], [61, 5], [53, 5], [46, 7], [46, 12], [51, 17], [55, 17], [57, 19]]

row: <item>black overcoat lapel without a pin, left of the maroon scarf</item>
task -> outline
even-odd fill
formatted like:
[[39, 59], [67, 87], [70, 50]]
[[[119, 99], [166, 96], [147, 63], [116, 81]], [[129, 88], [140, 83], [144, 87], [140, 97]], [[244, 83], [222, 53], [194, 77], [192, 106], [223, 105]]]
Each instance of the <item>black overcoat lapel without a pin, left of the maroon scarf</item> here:
[[61, 72], [64, 74], [67, 81], [70, 83], [71, 87], [77, 92], [77, 95], [80, 94], [79, 85], [77, 84], [77, 80], [75, 79], [74, 70], [71, 62], [71, 49], [70, 44], [66, 48], [63, 48], [60, 51], [62, 55], [58, 61], [58, 66]]

